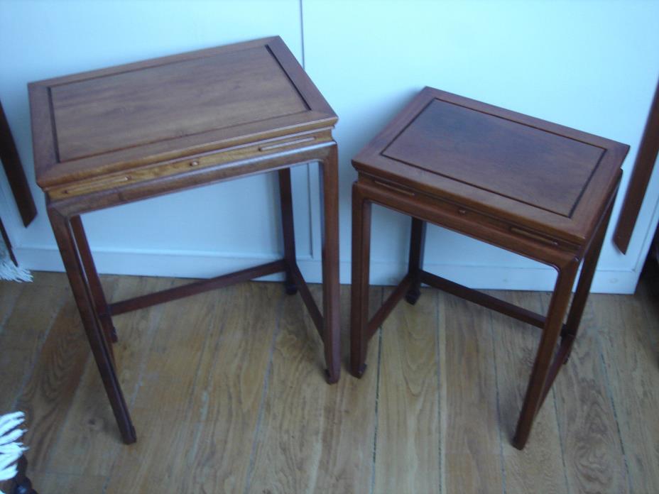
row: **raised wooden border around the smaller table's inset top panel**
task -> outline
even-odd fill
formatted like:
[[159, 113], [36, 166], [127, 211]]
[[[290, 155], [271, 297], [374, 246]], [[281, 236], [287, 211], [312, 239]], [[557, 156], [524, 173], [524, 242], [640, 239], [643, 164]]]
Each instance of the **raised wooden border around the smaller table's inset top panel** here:
[[[590, 177], [585, 187], [585, 193], [579, 198], [572, 216], [567, 217], [548, 212], [545, 209], [533, 207], [530, 204], [518, 202], [515, 199], [483, 190], [450, 177], [437, 175], [422, 168], [412, 167], [414, 177], [403, 177], [398, 173], [387, 170], [389, 163], [394, 163], [394, 166], [404, 165], [404, 163], [382, 155], [383, 150], [433, 99], [440, 99], [476, 111], [501, 116], [539, 130], [557, 133], [560, 136], [574, 138], [577, 141], [604, 149], [599, 165]], [[380, 177], [383, 180], [400, 183], [423, 194], [462, 203], [475, 211], [491, 216], [499, 216], [521, 226], [528, 226], [557, 238], [583, 244], [592, 235], [610, 194], [616, 189], [622, 172], [620, 167], [628, 150], [628, 145], [617, 141], [611, 141], [594, 134], [441, 91], [440, 89], [424, 87], [393, 119], [388, 121], [386, 126], [366, 146], [361, 148], [359, 153], [352, 159], [352, 166], [358, 172], [370, 177]], [[410, 167], [410, 165], [406, 166]], [[433, 182], [435, 185], [433, 185]], [[437, 186], [437, 183], [441, 186]], [[524, 214], [511, 213], [516, 209], [522, 209]]]

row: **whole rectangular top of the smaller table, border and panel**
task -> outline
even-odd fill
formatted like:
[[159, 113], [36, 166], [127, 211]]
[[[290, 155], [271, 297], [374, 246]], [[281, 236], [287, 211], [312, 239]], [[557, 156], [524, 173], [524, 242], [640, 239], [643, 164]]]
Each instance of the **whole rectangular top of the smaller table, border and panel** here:
[[582, 243], [628, 146], [426, 87], [357, 155], [367, 175]]

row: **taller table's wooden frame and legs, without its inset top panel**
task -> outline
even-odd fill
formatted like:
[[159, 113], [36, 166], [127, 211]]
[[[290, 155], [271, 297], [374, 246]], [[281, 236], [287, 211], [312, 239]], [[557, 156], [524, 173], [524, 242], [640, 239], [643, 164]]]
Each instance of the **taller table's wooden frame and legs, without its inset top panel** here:
[[[204, 132], [183, 132], [180, 136], [168, 136], [140, 146], [118, 146], [107, 152], [90, 153], [70, 160], [61, 158], [60, 153], [56, 152], [58, 133], [55, 132], [53, 118], [55, 105], [50, 99], [53, 87], [81, 81], [98, 82], [106, 75], [149, 70], [151, 67], [234, 52], [243, 57], [245, 63], [249, 63], [253, 60], [249, 53], [254, 52], [243, 52], [241, 55], [241, 50], [254, 49], [263, 50], [262, 53], [273, 57], [283, 70], [285, 80], [290, 82], [295, 94], [304, 101], [305, 111], [235, 126], [216, 125]], [[251, 80], [246, 74], [241, 77]], [[268, 84], [266, 79], [254, 80], [263, 80], [263, 84]], [[217, 84], [220, 89], [216, 89], [224, 90], [221, 86], [223, 83], [219, 81]], [[268, 87], [265, 90], [267, 92]], [[189, 91], [189, 88], [183, 91]], [[325, 378], [328, 383], [337, 382], [340, 372], [339, 182], [337, 144], [332, 138], [337, 116], [281, 38], [263, 38], [34, 82], [29, 84], [29, 92], [37, 182], [46, 193], [48, 217], [72, 294], [121, 437], [126, 444], [136, 441], [136, 432], [114, 362], [112, 343], [117, 340], [117, 334], [112, 317], [116, 314], [283, 272], [285, 290], [289, 294], [300, 291], [322, 338], [327, 366]], [[89, 89], [85, 89], [85, 94], [99, 97], [97, 92]], [[164, 107], [170, 109], [168, 104]], [[111, 118], [113, 112], [114, 106], [110, 104], [109, 116], [106, 118]], [[180, 118], [173, 113], [171, 119]], [[68, 125], [75, 129], [80, 126], [78, 120], [72, 119]], [[99, 126], [103, 122], [102, 119], [96, 121]], [[185, 126], [185, 122], [181, 125]], [[310, 162], [320, 164], [322, 179], [322, 314], [295, 258], [290, 168]], [[263, 172], [278, 173], [284, 244], [282, 259], [129, 300], [107, 301], [87, 242], [81, 214]]]

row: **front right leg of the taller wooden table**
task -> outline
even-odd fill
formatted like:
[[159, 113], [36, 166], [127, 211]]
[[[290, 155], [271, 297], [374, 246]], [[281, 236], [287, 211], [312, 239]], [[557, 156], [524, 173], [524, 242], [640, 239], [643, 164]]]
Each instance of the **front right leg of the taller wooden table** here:
[[337, 146], [320, 162], [322, 197], [322, 339], [325, 344], [327, 383], [336, 383], [341, 371], [339, 314], [339, 162]]

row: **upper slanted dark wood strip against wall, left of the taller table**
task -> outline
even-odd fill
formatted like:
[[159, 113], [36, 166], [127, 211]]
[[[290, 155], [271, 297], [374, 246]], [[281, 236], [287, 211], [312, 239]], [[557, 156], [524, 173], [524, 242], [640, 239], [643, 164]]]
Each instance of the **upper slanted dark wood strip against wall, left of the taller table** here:
[[4, 168], [4, 172], [7, 175], [7, 180], [9, 181], [9, 187], [11, 187], [13, 198], [16, 199], [16, 206], [18, 206], [18, 212], [21, 213], [23, 225], [28, 226], [37, 215], [37, 208], [34, 205], [32, 192], [30, 191], [28, 180], [26, 179], [25, 172], [23, 171], [21, 157], [18, 155], [16, 143], [13, 142], [13, 136], [11, 136], [11, 128], [9, 128], [9, 122], [7, 121], [7, 117], [4, 114], [4, 109], [2, 108], [1, 103], [0, 161], [2, 161], [2, 167]]

